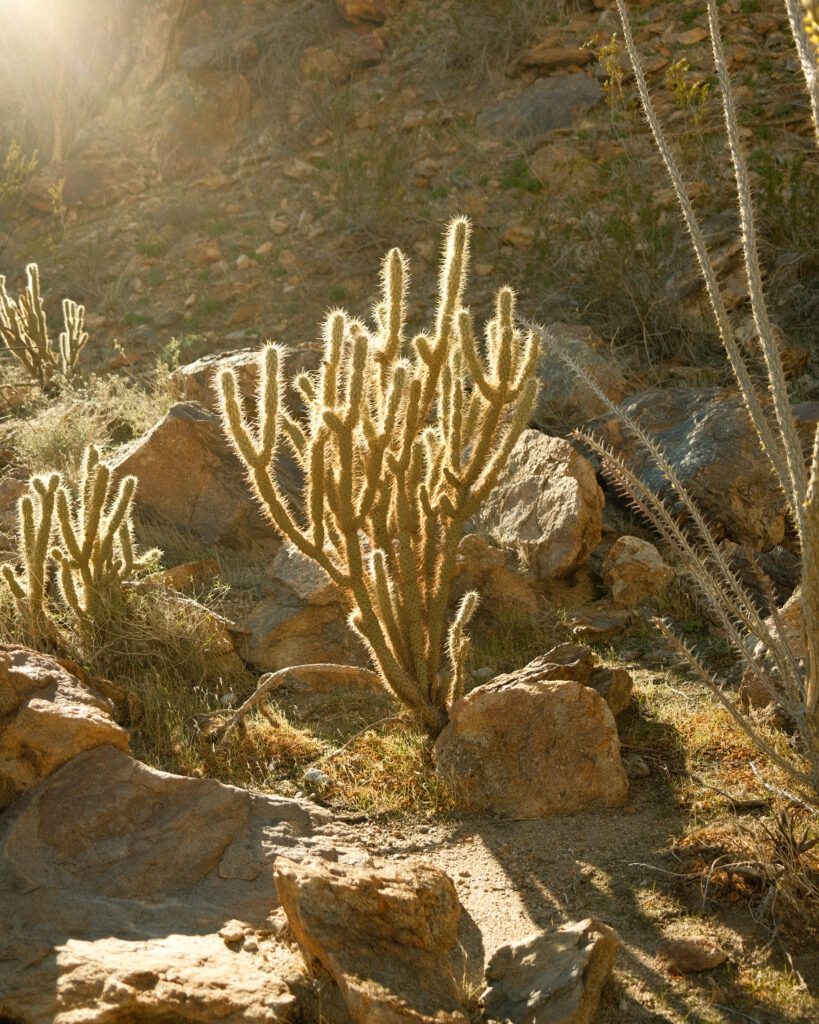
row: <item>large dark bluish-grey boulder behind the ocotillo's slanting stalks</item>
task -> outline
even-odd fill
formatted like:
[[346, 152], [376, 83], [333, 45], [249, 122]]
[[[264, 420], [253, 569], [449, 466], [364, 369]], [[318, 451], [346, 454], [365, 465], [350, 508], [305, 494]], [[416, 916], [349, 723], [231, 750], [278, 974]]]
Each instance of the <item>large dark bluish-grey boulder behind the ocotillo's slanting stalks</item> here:
[[[721, 388], [647, 391], [620, 408], [660, 444], [718, 534], [767, 551], [785, 532], [785, 502], [760, 449], [742, 399]], [[682, 511], [643, 445], [614, 415], [587, 425], [640, 479]]]

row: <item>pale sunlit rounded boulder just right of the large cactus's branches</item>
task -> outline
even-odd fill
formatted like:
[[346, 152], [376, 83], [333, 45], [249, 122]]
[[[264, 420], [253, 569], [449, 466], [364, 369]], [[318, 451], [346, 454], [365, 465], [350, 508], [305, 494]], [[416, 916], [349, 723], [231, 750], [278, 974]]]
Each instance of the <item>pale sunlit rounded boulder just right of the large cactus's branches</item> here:
[[568, 441], [524, 430], [481, 516], [535, 575], [562, 577], [600, 542], [603, 492], [592, 464]]

